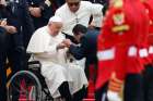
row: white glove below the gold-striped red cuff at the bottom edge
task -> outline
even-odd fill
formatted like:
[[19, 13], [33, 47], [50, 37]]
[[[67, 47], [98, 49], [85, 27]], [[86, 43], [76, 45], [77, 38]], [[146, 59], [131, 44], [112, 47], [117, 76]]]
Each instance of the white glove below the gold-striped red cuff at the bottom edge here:
[[110, 90], [107, 91], [107, 98], [108, 101], [121, 101], [118, 92], [110, 91]]

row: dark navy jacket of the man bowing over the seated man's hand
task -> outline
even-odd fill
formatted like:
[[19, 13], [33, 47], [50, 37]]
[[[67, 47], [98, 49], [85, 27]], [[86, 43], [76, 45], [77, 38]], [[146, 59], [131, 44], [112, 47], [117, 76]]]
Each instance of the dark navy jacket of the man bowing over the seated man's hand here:
[[81, 38], [81, 46], [76, 47], [74, 45], [70, 46], [70, 53], [76, 59], [81, 60], [86, 58], [86, 64], [96, 63], [96, 40], [97, 40], [97, 30], [89, 30], [82, 38]]

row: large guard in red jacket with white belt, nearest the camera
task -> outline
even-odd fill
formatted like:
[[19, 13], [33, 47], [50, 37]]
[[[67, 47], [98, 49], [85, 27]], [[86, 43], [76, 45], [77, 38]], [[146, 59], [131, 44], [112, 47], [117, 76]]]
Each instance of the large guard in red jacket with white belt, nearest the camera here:
[[109, 3], [98, 37], [97, 98], [105, 99], [103, 90], [108, 89], [109, 101], [121, 101], [119, 91], [125, 80], [123, 101], [143, 101], [139, 49], [148, 34], [149, 17], [140, 0], [110, 0]]

